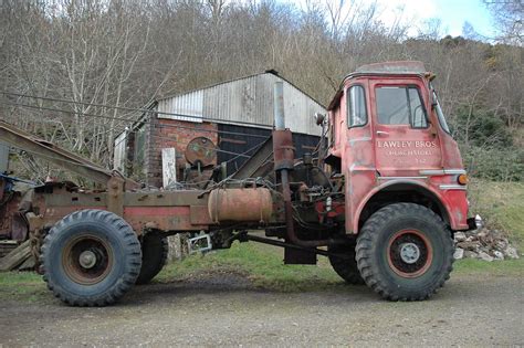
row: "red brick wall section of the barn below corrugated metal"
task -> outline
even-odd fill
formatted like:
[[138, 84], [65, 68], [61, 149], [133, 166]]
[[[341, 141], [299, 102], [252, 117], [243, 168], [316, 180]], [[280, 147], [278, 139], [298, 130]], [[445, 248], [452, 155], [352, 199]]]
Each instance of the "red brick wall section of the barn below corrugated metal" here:
[[[191, 123], [177, 119], [154, 118], [147, 127], [145, 169], [146, 182], [149, 186], [161, 187], [161, 149], [174, 147], [177, 150], [177, 178], [181, 180], [186, 158], [186, 147], [197, 137], [206, 137], [218, 145], [218, 127], [211, 123]], [[182, 128], [184, 127], [184, 128]], [[208, 131], [212, 130], [212, 131]]]

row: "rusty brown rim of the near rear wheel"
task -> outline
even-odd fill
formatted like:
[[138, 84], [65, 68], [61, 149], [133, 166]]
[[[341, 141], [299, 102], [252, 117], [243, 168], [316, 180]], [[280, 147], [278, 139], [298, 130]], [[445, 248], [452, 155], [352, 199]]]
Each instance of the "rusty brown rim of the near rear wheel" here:
[[71, 240], [64, 247], [62, 265], [75, 283], [93, 285], [102, 282], [113, 265], [112, 249], [98, 236], [84, 234]]

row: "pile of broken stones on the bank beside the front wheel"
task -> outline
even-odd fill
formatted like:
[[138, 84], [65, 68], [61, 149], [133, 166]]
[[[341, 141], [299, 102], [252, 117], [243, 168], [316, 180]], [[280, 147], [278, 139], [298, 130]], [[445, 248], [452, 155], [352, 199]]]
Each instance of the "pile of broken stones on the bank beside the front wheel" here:
[[496, 261], [518, 259], [518, 252], [501, 231], [482, 229], [454, 234], [454, 259]]

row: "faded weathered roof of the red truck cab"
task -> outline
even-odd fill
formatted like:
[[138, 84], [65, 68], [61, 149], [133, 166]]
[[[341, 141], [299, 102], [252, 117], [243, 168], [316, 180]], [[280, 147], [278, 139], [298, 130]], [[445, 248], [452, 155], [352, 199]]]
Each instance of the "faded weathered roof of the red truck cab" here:
[[358, 67], [354, 73], [350, 73], [342, 81], [340, 87], [338, 88], [335, 97], [327, 106], [328, 110], [334, 109], [338, 106], [340, 97], [344, 94], [344, 83], [355, 76], [363, 75], [425, 75], [426, 67], [422, 62], [419, 61], [397, 61], [397, 62], [382, 62], [366, 64]]

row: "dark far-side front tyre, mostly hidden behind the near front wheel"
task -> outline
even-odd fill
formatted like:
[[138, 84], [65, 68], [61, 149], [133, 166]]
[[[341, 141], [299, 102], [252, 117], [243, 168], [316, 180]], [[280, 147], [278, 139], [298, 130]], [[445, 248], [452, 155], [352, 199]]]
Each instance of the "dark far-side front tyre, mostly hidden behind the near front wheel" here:
[[345, 254], [348, 259], [340, 259], [337, 256], [328, 256], [329, 263], [333, 270], [338, 274], [347, 284], [363, 285], [364, 280], [360, 276], [360, 272], [357, 267], [357, 261], [355, 260], [355, 241], [350, 241], [344, 245], [332, 245], [328, 251], [336, 254]]

